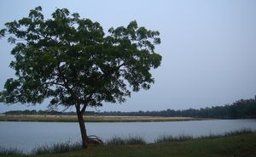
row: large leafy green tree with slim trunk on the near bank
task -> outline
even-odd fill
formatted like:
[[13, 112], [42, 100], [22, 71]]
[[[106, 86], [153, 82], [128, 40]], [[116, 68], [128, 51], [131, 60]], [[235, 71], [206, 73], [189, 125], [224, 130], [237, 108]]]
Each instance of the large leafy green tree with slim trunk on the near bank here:
[[154, 52], [160, 33], [131, 21], [105, 34], [98, 22], [70, 14], [67, 8], [51, 15], [45, 20], [37, 7], [0, 31], [15, 44], [15, 60], [9, 64], [15, 78], [6, 81], [0, 102], [41, 104], [50, 98], [49, 106], [74, 106], [86, 148], [87, 107], [125, 102], [131, 91], [154, 83], [150, 70], [160, 66], [161, 56]]

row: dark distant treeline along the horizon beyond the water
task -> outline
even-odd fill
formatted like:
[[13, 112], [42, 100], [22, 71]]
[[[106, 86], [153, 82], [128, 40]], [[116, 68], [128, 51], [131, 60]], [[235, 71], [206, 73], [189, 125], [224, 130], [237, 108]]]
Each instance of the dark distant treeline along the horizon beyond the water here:
[[[59, 112], [55, 110], [15, 110], [4, 113], [5, 115], [76, 115], [75, 112]], [[88, 111], [84, 115], [126, 115], [126, 116], [184, 116], [199, 118], [219, 118], [219, 119], [238, 119], [238, 118], [256, 118], [256, 99], [241, 99], [233, 104], [224, 106], [214, 106], [204, 109], [183, 109], [174, 110], [166, 109], [160, 111], [137, 111], [137, 112], [120, 112]]]

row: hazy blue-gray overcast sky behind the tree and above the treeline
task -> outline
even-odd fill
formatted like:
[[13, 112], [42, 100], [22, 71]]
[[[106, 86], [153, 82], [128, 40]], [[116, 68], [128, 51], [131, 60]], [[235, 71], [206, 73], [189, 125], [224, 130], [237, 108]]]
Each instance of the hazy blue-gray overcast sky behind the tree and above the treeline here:
[[[160, 110], [204, 108], [256, 95], [255, 0], [1, 0], [0, 28], [43, 7], [45, 17], [55, 8], [68, 8], [81, 17], [98, 21], [105, 31], [137, 20], [160, 31], [163, 56], [153, 71], [155, 84], [132, 93], [125, 104], [104, 104], [99, 110]], [[0, 40], [0, 90], [14, 76], [9, 68], [12, 46]], [[46, 109], [47, 102], [26, 105], [0, 104], [0, 113], [14, 109]]]

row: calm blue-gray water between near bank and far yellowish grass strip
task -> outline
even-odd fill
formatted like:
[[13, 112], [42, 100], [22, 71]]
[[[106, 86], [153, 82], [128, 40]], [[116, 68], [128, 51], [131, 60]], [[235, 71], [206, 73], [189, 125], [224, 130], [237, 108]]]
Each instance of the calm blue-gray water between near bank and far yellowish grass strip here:
[[[241, 129], [256, 131], [256, 120], [170, 121], [170, 122], [97, 122], [86, 123], [88, 135], [103, 140], [110, 137], [143, 137], [148, 143], [161, 135], [194, 137], [221, 134]], [[79, 123], [0, 122], [0, 146], [31, 151], [39, 145], [79, 142]]]

